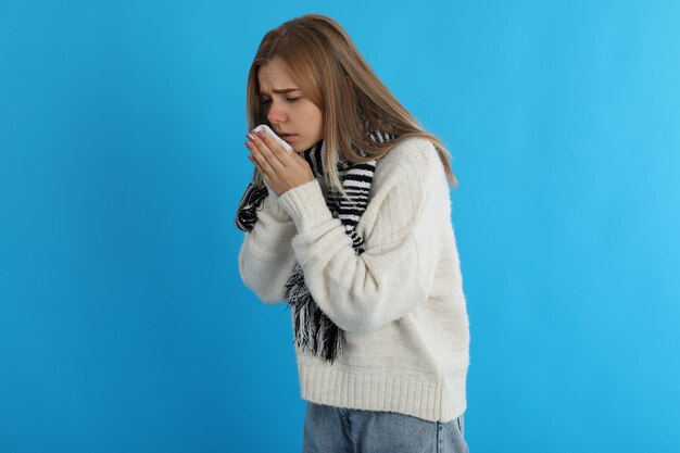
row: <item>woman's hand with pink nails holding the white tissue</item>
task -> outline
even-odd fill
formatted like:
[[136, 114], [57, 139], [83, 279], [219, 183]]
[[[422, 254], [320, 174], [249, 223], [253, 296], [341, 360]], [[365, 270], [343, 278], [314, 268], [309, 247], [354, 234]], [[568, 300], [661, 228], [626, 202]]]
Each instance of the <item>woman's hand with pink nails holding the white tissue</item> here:
[[272, 137], [264, 133], [250, 133], [245, 147], [251, 155], [248, 159], [255, 164], [264, 181], [278, 197], [285, 191], [314, 180], [314, 174], [307, 161], [294, 151], [288, 153]]

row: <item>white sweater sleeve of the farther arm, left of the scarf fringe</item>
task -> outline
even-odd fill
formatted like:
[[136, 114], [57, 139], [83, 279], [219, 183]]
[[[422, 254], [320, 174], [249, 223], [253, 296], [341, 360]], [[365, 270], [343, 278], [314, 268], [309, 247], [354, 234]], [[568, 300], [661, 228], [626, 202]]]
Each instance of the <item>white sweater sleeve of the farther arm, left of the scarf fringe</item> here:
[[285, 284], [294, 265], [295, 224], [270, 190], [256, 214], [257, 222], [251, 232], [243, 234], [239, 252], [241, 279], [263, 302], [284, 302]]

